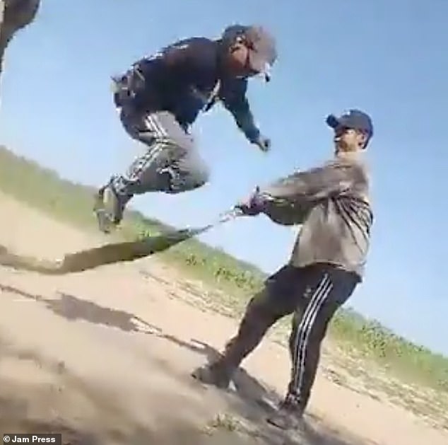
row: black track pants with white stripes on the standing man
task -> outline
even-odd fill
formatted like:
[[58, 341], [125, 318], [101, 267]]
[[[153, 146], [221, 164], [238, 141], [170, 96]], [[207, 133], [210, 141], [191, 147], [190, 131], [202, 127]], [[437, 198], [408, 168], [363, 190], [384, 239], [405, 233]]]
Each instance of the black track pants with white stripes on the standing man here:
[[259, 345], [277, 320], [293, 313], [288, 396], [293, 396], [305, 409], [326, 329], [334, 313], [353, 294], [358, 282], [357, 275], [331, 265], [282, 267], [249, 301], [238, 333], [226, 345], [218, 364], [229, 371], [235, 369]]

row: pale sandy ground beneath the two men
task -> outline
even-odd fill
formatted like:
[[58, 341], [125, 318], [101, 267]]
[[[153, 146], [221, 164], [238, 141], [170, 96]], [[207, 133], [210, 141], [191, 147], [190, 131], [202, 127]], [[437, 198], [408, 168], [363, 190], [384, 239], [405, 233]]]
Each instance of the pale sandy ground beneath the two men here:
[[[20, 253], [54, 258], [104, 241], [0, 201], [0, 243]], [[199, 385], [189, 372], [237, 322], [179, 299], [178, 282], [157, 258], [63, 277], [0, 268], [0, 433], [62, 432], [80, 445], [448, 444], [447, 431], [322, 373], [307, 427], [269, 427], [260, 400], [283, 394], [287, 351], [266, 340], [234, 391]]]

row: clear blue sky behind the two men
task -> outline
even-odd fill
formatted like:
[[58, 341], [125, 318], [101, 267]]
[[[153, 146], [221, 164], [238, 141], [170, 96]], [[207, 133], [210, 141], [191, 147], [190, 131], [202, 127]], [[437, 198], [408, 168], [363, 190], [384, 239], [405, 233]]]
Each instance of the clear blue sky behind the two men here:
[[[365, 282], [350, 306], [448, 354], [446, 253], [448, 2], [432, 0], [43, 0], [17, 35], [2, 79], [0, 143], [66, 178], [100, 185], [138, 152], [112, 106], [110, 76], [172, 40], [217, 37], [230, 23], [276, 35], [271, 83], [249, 100], [270, 154], [257, 151], [218, 105], [194, 134], [211, 183], [179, 196], [145, 195], [134, 207], [177, 226], [203, 224], [264, 184], [331, 156], [329, 112], [362, 108], [376, 134], [367, 158], [375, 226]], [[272, 272], [295, 231], [264, 216], [204, 241]]]

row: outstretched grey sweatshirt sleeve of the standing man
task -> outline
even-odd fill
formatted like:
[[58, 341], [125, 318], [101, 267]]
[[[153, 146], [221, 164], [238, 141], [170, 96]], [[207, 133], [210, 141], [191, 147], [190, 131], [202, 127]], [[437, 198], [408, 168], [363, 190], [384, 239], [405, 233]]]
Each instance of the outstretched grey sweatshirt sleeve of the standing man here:
[[302, 224], [318, 202], [352, 188], [357, 175], [359, 168], [350, 163], [293, 173], [260, 190], [263, 213], [285, 226]]

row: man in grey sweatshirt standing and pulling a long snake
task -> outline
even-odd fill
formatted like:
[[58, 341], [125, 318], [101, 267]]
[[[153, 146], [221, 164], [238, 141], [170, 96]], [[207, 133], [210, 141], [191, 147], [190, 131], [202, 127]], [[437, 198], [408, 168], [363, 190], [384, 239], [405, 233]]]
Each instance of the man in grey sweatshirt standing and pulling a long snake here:
[[370, 244], [373, 215], [361, 156], [373, 134], [372, 120], [365, 112], [350, 110], [341, 117], [329, 115], [326, 122], [334, 129], [333, 160], [278, 180], [238, 205], [244, 214], [264, 213], [278, 224], [302, 224], [302, 229], [289, 264], [249, 301], [225, 352], [192, 374], [203, 383], [227, 388], [233, 372], [266, 331], [294, 313], [290, 383], [283, 403], [268, 419], [281, 429], [300, 426], [326, 328], [361, 282]]

